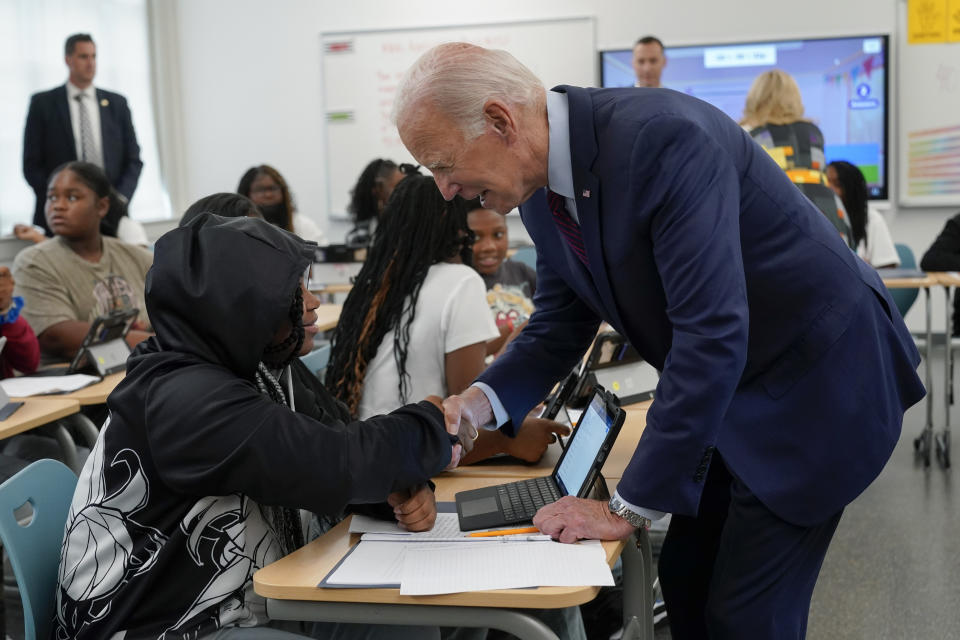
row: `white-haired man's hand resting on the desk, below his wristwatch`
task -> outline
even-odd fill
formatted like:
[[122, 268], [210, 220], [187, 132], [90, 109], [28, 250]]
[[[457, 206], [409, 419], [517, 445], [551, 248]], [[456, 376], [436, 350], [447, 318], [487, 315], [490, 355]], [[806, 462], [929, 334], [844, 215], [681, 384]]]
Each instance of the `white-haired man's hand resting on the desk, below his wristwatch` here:
[[634, 531], [632, 524], [610, 513], [606, 502], [573, 496], [564, 496], [537, 511], [533, 524], [560, 542], [623, 540]]

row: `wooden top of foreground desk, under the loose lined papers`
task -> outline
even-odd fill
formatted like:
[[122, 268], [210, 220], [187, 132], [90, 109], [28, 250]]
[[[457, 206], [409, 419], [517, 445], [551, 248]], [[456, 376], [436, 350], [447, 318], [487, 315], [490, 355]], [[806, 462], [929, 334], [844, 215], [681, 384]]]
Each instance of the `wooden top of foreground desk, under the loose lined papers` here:
[[[503, 478], [440, 478], [437, 497], [452, 500], [464, 489], [499, 484]], [[596, 597], [599, 587], [540, 587], [499, 589], [436, 596], [401, 596], [399, 589], [321, 589], [317, 584], [359, 541], [348, 532], [349, 519], [289, 556], [253, 574], [254, 590], [267, 598], [318, 602], [366, 602], [374, 604], [449, 605], [472, 607], [555, 608], [583, 604]], [[468, 544], [468, 543], [463, 543]], [[623, 542], [604, 542], [607, 562], [616, 562]]]

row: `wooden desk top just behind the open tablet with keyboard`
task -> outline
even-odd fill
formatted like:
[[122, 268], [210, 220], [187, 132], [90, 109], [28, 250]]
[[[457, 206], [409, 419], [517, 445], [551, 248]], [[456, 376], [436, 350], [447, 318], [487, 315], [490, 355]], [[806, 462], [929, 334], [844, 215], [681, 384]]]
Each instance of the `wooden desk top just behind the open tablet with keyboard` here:
[[[620, 429], [620, 435], [613, 445], [613, 450], [607, 456], [607, 461], [603, 464], [601, 470], [603, 475], [611, 478], [619, 478], [623, 475], [633, 452], [637, 448], [640, 436], [647, 424], [647, 410], [652, 404], [652, 400], [638, 402], [624, 407], [626, 418], [623, 421], [623, 427]], [[458, 467], [453, 471], [447, 471], [441, 474], [441, 478], [536, 478], [549, 474], [557, 460], [560, 459], [560, 445], [552, 444], [547, 447], [546, 453], [540, 458], [539, 462], [534, 464], [503, 464], [496, 459], [486, 460], [478, 464], [472, 464], [465, 467]]]

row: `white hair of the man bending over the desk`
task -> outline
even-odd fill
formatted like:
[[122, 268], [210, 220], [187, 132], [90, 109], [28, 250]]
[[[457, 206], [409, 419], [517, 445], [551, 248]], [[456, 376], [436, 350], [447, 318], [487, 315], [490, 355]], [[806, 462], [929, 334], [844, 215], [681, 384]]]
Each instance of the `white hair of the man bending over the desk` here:
[[536, 105], [543, 91], [540, 79], [506, 51], [450, 42], [433, 47], [407, 69], [392, 118], [397, 124], [429, 104], [450, 117], [469, 142], [484, 132], [488, 100], [522, 108]]

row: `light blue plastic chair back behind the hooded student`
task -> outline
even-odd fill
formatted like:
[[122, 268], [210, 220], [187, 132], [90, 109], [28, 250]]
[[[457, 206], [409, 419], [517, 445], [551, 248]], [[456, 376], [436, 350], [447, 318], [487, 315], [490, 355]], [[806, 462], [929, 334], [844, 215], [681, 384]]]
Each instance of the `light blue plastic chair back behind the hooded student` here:
[[[0, 540], [23, 601], [24, 637], [50, 637], [63, 528], [77, 476], [56, 460], [38, 460], [0, 485]], [[25, 502], [33, 519], [21, 526], [14, 511]]]

